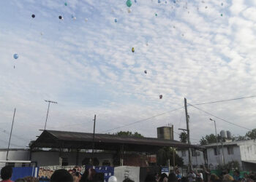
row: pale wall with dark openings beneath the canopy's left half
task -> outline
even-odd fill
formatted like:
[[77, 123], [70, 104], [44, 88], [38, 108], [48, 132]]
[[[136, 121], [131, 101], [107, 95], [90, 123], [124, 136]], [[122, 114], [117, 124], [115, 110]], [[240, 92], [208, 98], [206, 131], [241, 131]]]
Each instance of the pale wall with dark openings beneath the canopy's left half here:
[[[76, 165], [76, 152], [61, 152], [59, 151], [33, 151], [31, 154], [31, 160], [36, 161], [39, 166], [59, 165], [59, 157], [67, 158], [68, 165]], [[78, 165], [82, 165], [84, 158], [90, 158], [91, 153], [78, 153]], [[106, 153], [94, 153], [94, 157], [99, 159], [99, 165], [102, 165], [104, 160], [108, 160], [110, 165], [113, 165], [113, 154]]]

